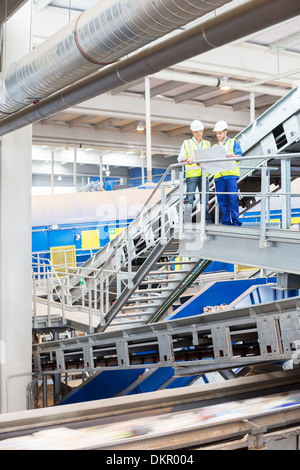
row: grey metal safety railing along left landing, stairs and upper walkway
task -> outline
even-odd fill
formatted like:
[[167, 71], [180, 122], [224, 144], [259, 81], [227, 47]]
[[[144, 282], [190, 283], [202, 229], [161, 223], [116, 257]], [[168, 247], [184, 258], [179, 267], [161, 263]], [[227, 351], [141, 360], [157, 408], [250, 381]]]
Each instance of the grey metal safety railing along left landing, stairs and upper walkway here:
[[[246, 163], [249, 166], [243, 167], [243, 158], [247, 159]], [[268, 156], [234, 157], [234, 159], [240, 161], [244, 170], [241, 179], [244, 179], [247, 174], [260, 172], [260, 191], [238, 191], [237, 194], [239, 198], [250, 197], [260, 200], [261, 221], [257, 225], [257, 229], [259, 230], [260, 246], [264, 247], [268, 243], [266, 228], [267, 226], [269, 228], [267, 224], [270, 222], [271, 198], [281, 198], [281, 228], [283, 230], [290, 228], [291, 199], [300, 197], [300, 194], [291, 191], [291, 160], [299, 160], [300, 154], [272, 154]], [[268, 166], [268, 163], [274, 159], [280, 161], [280, 168]], [[210, 161], [222, 162], [226, 159]], [[207, 162], [208, 160], [199, 160], [197, 163], [205, 170]], [[251, 162], [253, 162], [253, 166]], [[256, 164], [257, 162], [258, 164]], [[275, 170], [280, 171], [280, 192], [271, 191], [270, 188], [270, 172]], [[175, 171], [177, 172], [176, 179], [174, 179]], [[170, 182], [166, 183], [166, 178], [170, 173], [172, 175], [171, 184]], [[199, 223], [188, 225], [188, 231], [200, 230], [200, 239], [203, 241], [206, 239], [208, 230], [205, 221], [207, 196], [210, 198], [210, 210], [214, 211], [214, 223], [215, 225], [220, 224], [217, 204], [218, 194], [214, 188], [213, 177], [210, 176], [209, 178], [209, 194], [206, 191], [206, 178], [206, 171], [202, 171], [201, 192], [197, 194], [195, 208], [192, 213], [192, 216]], [[158, 191], [160, 191], [160, 200], [151, 205], [151, 201]], [[186, 194], [184, 163], [170, 165], [135, 220], [113, 240], [113, 249], [107, 252], [106, 259], [98, 268], [91, 269], [90, 266], [85, 267], [84, 265], [74, 268], [68, 263], [60, 267], [53, 267], [49, 260], [36, 257], [33, 271], [33, 303], [36, 306], [37, 299], [41, 297], [41, 295], [37, 295], [37, 291], [43, 285], [44, 295], [47, 299], [49, 326], [51, 326], [51, 309], [53, 305], [61, 307], [63, 321], [67, 308], [71, 309], [80, 305], [88, 315], [87, 323], [90, 332], [93, 331], [94, 315], [100, 323], [103, 322], [113, 300], [118, 298], [125, 288], [131, 286], [135, 270], [134, 260], [138, 257], [147, 257], [149, 249], [168, 239], [175, 228], [179, 240], [185, 237], [187, 225], [184, 223], [183, 214]], [[211, 229], [211, 226], [209, 228]], [[278, 226], [274, 224], [274, 228], [278, 229]], [[224, 230], [226, 230], [225, 226]], [[161, 268], [161, 276], [169, 274], [169, 272], [165, 272], [164, 268]], [[72, 284], [69, 282], [70, 276], [73, 278]], [[77, 280], [76, 293], [73, 292], [74, 277]], [[80, 292], [80, 295], [78, 292]], [[79, 298], [80, 300], [78, 300]], [[37, 323], [36, 307], [34, 307], [34, 324]]]

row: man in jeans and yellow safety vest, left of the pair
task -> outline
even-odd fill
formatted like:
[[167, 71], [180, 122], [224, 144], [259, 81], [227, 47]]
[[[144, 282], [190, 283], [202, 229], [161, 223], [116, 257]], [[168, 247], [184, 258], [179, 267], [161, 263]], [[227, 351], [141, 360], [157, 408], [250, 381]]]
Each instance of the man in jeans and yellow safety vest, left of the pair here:
[[[205, 149], [211, 146], [210, 142], [204, 140], [203, 131], [204, 125], [197, 119], [194, 120], [190, 125], [193, 137], [189, 140], [184, 140], [178, 155], [178, 162], [186, 162], [185, 165], [185, 178], [186, 178], [186, 199], [184, 209], [184, 222], [190, 222], [192, 217], [193, 203], [195, 200], [195, 192], [198, 188], [201, 198], [201, 180], [202, 180], [202, 169], [199, 163], [195, 163], [195, 150]], [[211, 216], [209, 214], [208, 204], [208, 190], [209, 182], [206, 179], [206, 214], [205, 221], [207, 224], [211, 223]], [[201, 200], [201, 199], [200, 199]]]

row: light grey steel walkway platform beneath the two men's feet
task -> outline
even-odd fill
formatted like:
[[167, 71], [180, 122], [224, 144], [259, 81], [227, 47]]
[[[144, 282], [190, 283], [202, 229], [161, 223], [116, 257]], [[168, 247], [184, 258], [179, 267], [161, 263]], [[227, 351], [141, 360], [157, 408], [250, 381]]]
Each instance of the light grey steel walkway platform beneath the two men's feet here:
[[259, 224], [253, 225], [209, 225], [203, 231], [200, 224], [193, 224], [189, 233], [194, 238], [181, 240], [179, 253], [299, 275], [300, 232], [269, 224], [262, 233]]

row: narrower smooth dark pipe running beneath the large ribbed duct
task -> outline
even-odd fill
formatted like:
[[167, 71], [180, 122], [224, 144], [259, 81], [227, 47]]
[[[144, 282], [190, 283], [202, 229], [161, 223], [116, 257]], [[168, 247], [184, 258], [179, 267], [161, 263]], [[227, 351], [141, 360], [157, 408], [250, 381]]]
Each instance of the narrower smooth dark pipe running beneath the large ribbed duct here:
[[300, 14], [299, 0], [248, 0], [151, 45], [0, 121], [0, 135], [50, 117], [213, 48]]

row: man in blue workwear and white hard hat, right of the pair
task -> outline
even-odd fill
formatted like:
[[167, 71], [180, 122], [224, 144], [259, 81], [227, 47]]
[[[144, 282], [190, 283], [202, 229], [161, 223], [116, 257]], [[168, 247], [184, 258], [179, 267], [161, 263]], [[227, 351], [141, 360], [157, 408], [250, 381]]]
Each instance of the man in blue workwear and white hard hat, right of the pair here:
[[[218, 143], [215, 145], [224, 145], [227, 150], [227, 157], [242, 157], [243, 152], [240, 143], [236, 139], [227, 137], [228, 125], [225, 121], [218, 121], [215, 125]], [[223, 225], [241, 226], [239, 221], [239, 199], [237, 181], [240, 176], [239, 162], [235, 161], [236, 167], [232, 171], [223, 171], [214, 174], [214, 180], [217, 191], [218, 204], [221, 209], [221, 223]], [[236, 194], [219, 194], [219, 193]]]

